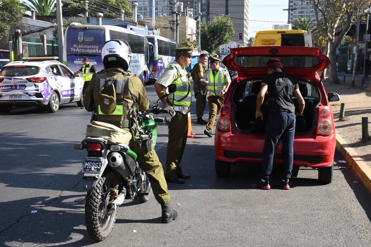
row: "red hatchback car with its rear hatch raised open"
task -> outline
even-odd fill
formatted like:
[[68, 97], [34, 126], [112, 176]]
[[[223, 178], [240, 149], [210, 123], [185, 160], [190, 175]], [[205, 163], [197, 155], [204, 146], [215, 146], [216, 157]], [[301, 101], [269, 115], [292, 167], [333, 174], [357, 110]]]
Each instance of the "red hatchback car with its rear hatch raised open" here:
[[[241, 47], [231, 49], [231, 54], [224, 58], [223, 64], [229, 70], [238, 71], [238, 76], [233, 79], [219, 112], [215, 133], [216, 174], [229, 176], [231, 165], [236, 162], [262, 161], [264, 128], [262, 133], [252, 133], [252, 125], [261, 80], [267, 75], [266, 61], [272, 57], [278, 58], [284, 72], [298, 81], [305, 100], [305, 121], [297, 121], [295, 128], [292, 177], [298, 176], [299, 166], [312, 167], [318, 168], [319, 181], [331, 183], [336, 139], [329, 101], [338, 101], [340, 97], [336, 93], [326, 95], [316, 71], [323, 71], [330, 60], [314, 47]], [[267, 97], [266, 94], [265, 101]], [[292, 101], [297, 110], [294, 96]], [[266, 121], [267, 114], [263, 118]], [[273, 163], [283, 163], [281, 150], [279, 141]]]

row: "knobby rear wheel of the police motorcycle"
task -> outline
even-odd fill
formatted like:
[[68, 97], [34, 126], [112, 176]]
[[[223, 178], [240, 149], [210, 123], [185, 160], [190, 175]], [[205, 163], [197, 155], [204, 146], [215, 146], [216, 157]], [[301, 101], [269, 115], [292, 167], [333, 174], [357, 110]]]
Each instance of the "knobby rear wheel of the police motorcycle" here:
[[117, 210], [111, 207], [114, 195], [111, 188], [118, 190], [118, 178], [112, 171], [104, 173], [95, 188], [86, 194], [85, 221], [89, 236], [99, 242], [104, 240], [114, 227]]

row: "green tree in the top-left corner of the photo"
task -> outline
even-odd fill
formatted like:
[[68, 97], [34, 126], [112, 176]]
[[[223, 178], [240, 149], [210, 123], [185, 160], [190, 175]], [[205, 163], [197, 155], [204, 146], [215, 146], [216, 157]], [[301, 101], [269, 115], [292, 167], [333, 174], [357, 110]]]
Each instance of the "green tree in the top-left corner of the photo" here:
[[0, 39], [22, 20], [24, 8], [18, 0], [0, 0]]

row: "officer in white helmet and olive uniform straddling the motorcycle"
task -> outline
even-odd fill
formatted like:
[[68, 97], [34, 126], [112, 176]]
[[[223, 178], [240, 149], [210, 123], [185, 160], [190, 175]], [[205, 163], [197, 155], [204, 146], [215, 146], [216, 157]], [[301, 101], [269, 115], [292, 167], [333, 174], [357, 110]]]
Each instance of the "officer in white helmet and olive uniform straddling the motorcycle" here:
[[[162, 165], [154, 149], [143, 152], [140, 145], [138, 130], [138, 111], [145, 111], [149, 107], [147, 93], [141, 80], [132, 73], [128, 73], [131, 49], [125, 40], [109, 40], [102, 48], [102, 59], [107, 70], [95, 74], [89, 83], [83, 97], [83, 104], [87, 111], [93, 111], [96, 106], [97, 120], [113, 124], [132, 133], [129, 142], [130, 148], [139, 154], [137, 161], [139, 167], [147, 174], [151, 183], [153, 194], [161, 204], [162, 223], [170, 223], [178, 217], [169, 203], [170, 196], [164, 177]], [[107, 84], [114, 84], [116, 91], [116, 107], [112, 113], [107, 113], [109, 102], [101, 97], [101, 91]], [[118, 109], [118, 110], [117, 110]], [[124, 113], [124, 114], [123, 114]]]

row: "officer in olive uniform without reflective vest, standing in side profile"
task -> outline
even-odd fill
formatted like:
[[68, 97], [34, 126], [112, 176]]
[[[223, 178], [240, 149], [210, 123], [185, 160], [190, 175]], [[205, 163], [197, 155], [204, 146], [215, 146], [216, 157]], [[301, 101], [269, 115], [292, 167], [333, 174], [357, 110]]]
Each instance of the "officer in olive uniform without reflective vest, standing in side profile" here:
[[196, 124], [206, 124], [207, 122], [202, 119], [202, 116], [204, 116], [204, 110], [206, 107], [206, 84], [201, 84], [200, 79], [204, 77], [204, 74], [206, 72], [206, 66], [207, 63], [207, 55], [201, 54], [200, 58], [198, 59], [198, 63], [196, 63], [193, 66], [193, 73], [192, 73], [192, 79], [193, 79], [193, 92], [194, 97], [196, 98], [196, 116], [197, 121]]

